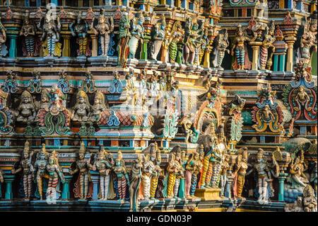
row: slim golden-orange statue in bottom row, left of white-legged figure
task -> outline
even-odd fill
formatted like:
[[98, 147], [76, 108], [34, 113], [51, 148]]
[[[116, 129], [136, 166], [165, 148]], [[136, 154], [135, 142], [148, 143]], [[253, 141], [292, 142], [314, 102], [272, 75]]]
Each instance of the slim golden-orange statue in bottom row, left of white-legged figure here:
[[[238, 151], [240, 153], [240, 150]], [[235, 198], [243, 198], [242, 197], [242, 191], [243, 186], [245, 183], [245, 175], [248, 168], [247, 165], [247, 147], [242, 148], [242, 154], [237, 155], [236, 163], [235, 163], [235, 169], [232, 174], [232, 177], [234, 178], [233, 184], [233, 193]]]

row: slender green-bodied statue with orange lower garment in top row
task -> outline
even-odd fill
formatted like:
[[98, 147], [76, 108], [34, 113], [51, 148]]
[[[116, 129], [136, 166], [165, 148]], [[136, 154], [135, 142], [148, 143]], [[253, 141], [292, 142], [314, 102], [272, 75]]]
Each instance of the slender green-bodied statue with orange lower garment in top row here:
[[129, 54], [129, 39], [130, 33], [130, 20], [132, 18], [131, 11], [128, 11], [127, 15], [122, 15], [119, 20], [119, 42], [117, 45], [118, 60], [117, 67], [126, 67], [126, 60]]

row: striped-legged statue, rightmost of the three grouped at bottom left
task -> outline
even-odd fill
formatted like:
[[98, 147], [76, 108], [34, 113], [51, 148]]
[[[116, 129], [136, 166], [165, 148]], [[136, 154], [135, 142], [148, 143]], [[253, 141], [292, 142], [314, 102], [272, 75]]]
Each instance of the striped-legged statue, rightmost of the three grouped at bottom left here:
[[49, 183], [47, 186], [47, 198], [49, 200], [57, 199], [57, 185], [59, 179], [62, 183], [65, 183], [64, 174], [61, 171], [59, 162], [57, 159], [57, 152], [55, 150], [49, 156], [49, 162], [47, 164], [47, 171], [49, 173]]

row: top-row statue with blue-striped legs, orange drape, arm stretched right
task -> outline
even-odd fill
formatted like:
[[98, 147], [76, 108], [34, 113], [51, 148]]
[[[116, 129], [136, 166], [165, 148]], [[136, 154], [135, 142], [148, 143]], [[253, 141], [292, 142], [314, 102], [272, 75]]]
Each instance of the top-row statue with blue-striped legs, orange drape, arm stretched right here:
[[247, 42], [251, 41], [254, 41], [254, 38], [250, 39], [247, 35], [244, 35], [242, 26], [239, 24], [237, 26], [236, 36], [233, 40], [231, 51], [231, 55], [234, 56], [235, 50], [235, 63], [237, 64], [232, 64], [233, 69], [249, 69], [252, 65], [252, 63], [248, 60], [247, 47], [245, 46]]

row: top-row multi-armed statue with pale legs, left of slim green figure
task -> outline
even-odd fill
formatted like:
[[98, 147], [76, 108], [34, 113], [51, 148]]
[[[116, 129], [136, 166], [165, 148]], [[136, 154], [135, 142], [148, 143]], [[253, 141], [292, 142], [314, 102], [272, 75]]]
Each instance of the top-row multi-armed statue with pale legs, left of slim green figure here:
[[110, 33], [114, 31], [114, 19], [112, 16], [107, 18], [105, 11], [101, 9], [98, 19], [94, 19], [93, 21], [92, 30], [99, 38], [100, 55], [107, 56], [108, 47], [110, 46]]

